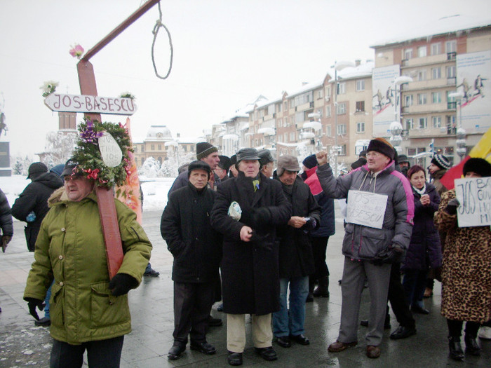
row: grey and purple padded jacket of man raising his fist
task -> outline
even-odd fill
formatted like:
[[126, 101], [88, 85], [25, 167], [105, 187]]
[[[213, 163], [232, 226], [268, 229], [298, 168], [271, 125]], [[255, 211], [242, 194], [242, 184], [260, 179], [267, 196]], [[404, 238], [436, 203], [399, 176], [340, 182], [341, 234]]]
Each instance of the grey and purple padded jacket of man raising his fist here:
[[415, 203], [411, 184], [401, 172], [394, 170], [394, 161], [376, 176], [366, 164], [337, 179], [332, 175], [330, 166], [325, 164], [317, 167], [317, 176], [323, 191], [332, 198], [347, 198], [350, 189], [387, 196], [382, 229], [346, 225], [342, 245], [346, 257], [370, 261], [393, 244], [403, 250], [408, 249]]

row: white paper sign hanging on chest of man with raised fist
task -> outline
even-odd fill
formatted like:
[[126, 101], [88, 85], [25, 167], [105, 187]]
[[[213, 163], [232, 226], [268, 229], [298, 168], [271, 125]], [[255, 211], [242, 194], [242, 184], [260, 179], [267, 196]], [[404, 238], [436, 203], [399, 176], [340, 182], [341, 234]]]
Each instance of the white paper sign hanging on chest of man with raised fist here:
[[346, 222], [382, 229], [387, 198], [386, 194], [350, 190]]

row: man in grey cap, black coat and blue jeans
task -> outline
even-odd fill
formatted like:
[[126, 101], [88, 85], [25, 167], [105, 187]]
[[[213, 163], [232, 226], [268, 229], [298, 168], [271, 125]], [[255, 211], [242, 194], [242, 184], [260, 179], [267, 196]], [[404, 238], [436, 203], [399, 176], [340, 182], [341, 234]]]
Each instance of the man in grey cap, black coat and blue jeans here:
[[[273, 329], [276, 343], [289, 348], [291, 341], [309, 345], [304, 335], [305, 302], [309, 294], [309, 275], [314, 273], [310, 231], [321, 222], [321, 206], [310, 192], [309, 186], [297, 175], [300, 166], [296, 157], [284, 155], [278, 158], [277, 179], [283, 193], [292, 205], [292, 217], [288, 224], [279, 226], [280, 240], [280, 306], [273, 313]], [[290, 289], [289, 308], [286, 296]]]

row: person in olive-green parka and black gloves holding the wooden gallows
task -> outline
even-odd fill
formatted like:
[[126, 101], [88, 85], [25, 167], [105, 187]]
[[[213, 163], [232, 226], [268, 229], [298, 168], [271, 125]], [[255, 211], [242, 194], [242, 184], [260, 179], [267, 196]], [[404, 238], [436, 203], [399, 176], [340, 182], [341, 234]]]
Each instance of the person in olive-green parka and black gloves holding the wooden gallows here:
[[124, 257], [109, 280], [94, 182], [77, 165], [67, 161], [65, 186], [49, 199], [24, 299], [39, 320], [36, 307], [43, 308], [46, 290], [55, 281], [50, 367], [82, 367], [85, 350], [90, 367], [119, 367], [123, 338], [131, 331], [126, 294], [140, 284], [152, 245], [135, 212], [114, 200]]

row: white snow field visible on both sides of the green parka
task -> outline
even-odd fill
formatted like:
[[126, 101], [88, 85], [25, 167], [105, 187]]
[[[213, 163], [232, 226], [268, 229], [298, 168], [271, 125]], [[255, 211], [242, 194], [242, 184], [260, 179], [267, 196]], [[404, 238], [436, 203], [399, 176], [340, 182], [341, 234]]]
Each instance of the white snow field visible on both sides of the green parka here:
[[[144, 211], [163, 211], [167, 205], [167, 194], [174, 182], [173, 177], [164, 178], [140, 178], [143, 191]], [[31, 181], [23, 175], [0, 177], [0, 189], [5, 193], [8, 203], [13, 205], [15, 199]], [[17, 221], [14, 219], [14, 221]]]

